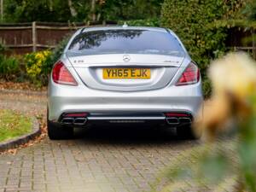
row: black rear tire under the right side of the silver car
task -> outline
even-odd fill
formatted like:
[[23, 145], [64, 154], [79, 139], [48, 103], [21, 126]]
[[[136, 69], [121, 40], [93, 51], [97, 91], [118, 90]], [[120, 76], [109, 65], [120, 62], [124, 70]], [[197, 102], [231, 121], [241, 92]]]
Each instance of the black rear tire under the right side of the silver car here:
[[177, 127], [176, 132], [177, 132], [177, 137], [179, 137], [181, 139], [196, 140], [196, 139], [201, 138], [201, 132], [196, 132], [195, 133], [195, 131], [193, 130], [191, 125], [179, 126], [179, 127]]

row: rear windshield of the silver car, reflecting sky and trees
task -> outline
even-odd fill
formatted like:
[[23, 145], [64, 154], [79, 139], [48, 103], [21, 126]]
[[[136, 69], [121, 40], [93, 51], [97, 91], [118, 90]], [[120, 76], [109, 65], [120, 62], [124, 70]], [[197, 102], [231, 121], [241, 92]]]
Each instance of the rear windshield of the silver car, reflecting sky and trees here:
[[73, 39], [70, 51], [83, 54], [183, 55], [183, 48], [168, 32], [148, 30], [105, 30], [84, 32]]

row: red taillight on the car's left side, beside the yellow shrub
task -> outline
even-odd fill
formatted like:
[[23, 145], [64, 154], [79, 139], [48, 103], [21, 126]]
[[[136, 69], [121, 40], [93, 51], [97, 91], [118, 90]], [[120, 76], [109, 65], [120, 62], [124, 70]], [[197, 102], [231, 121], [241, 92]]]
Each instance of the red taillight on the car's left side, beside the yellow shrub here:
[[73, 86], [78, 85], [72, 74], [67, 70], [67, 67], [65, 67], [61, 61], [57, 61], [55, 63], [52, 70], [52, 79], [56, 84], [68, 84]]

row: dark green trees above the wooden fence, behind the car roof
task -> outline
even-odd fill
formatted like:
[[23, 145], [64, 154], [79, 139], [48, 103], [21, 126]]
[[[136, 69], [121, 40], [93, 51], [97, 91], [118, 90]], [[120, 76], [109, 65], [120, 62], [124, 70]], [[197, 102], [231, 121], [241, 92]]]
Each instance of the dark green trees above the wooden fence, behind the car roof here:
[[143, 20], [158, 17], [162, 2], [163, 0], [9, 0], [4, 1], [4, 20]]

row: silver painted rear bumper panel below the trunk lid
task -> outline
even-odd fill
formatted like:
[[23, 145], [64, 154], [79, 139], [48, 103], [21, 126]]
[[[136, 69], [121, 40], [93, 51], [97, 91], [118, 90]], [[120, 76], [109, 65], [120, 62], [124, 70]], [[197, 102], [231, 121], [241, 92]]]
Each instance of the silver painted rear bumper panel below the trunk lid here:
[[[49, 120], [59, 122], [63, 113], [166, 113], [186, 112], [201, 116], [201, 82], [187, 86], [167, 86], [160, 90], [106, 91], [92, 90], [86, 86], [49, 84]], [[134, 116], [128, 117], [134, 117]], [[151, 116], [150, 116], [151, 117]], [[166, 117], [157, 116], [166, 123]], [[89, 117], [88, 117], [89, 118]], [[107, 119], [108, 117], [106, 117]], [[135, 119], [137, 120], [137, 119]], [[104, 119], [88, 119], [104, 121]]]

